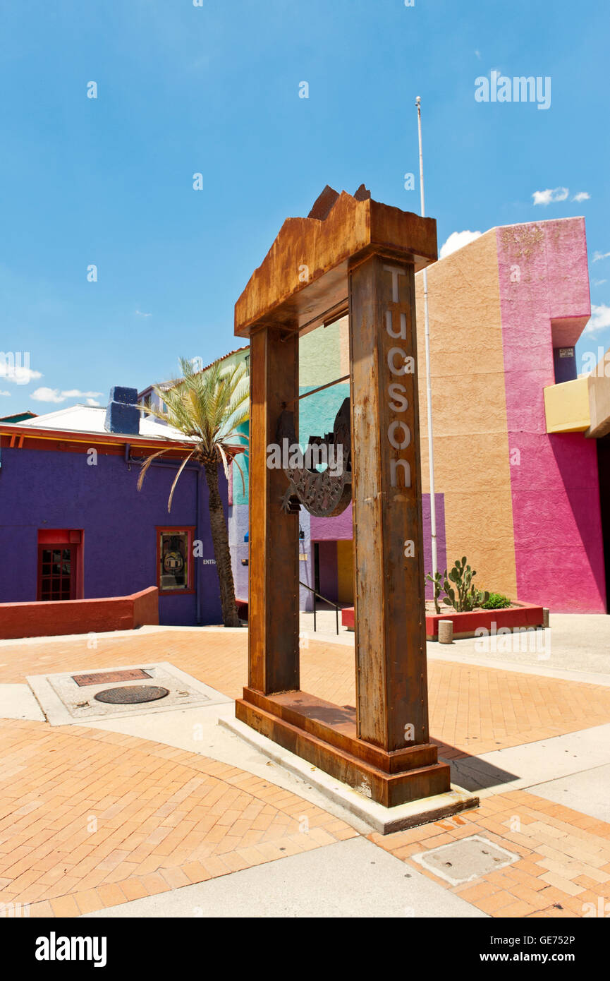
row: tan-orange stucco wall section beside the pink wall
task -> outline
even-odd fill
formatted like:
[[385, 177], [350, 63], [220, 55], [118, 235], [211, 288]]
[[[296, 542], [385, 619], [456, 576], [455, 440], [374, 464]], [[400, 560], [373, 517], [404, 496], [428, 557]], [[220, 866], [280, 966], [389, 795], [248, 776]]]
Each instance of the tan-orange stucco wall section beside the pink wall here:
[[[447, 562], [517, 595], [495, 230], [428, 270], [435, 490]], [[430, 492], [423, 275], [416, 276], [422, 484]]]

